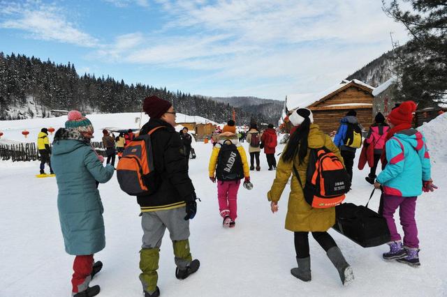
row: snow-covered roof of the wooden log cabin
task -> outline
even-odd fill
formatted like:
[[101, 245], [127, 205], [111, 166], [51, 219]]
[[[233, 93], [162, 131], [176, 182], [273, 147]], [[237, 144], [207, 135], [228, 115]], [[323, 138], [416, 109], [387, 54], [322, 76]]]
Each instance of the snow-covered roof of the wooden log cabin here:
[[344, 86], [348, 84], [358, 84], [360, 86], [365, 86], [368, 89], [374, 90], [374, 86], [369, 86], [369, 84], [365, 84], [364, 82], [360, 82], [358, 79], [346, 80], [343, 79], [341, 83], [335, 84], [328, 89], [325, 89], [322, 92], [318, 93], [301, 93], [301, 94], [290, 94], [286, 97], [286, 107], [288, 110], [295, 109], [298, 107], [308, 107], [312, 105], [312, 103], [325, 98], [326, 96], [342, 89]]

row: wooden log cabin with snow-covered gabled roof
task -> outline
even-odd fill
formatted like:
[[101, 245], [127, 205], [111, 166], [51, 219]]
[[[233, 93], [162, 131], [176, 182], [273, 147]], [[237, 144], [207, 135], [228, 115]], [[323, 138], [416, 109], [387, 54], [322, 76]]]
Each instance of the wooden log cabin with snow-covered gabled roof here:
[[[337, 130], [339, 121], [346, 115], [349, 109], [357, 112], [360, 124], [367, 130], [372, 124], [372, 102], [374, 87], [369, 86], [357, 79], [351, 81], [343, 80], [342, 83], [321, 93], [301, 94], [298, 96], [287, 96], [285, 108], [288, 111], [298, 107], [307, 107], [314, 114], [314, 123], [318, 124], [325, 133]], [[288, 123], [286, 131], [290, 131], [291, 124]]]

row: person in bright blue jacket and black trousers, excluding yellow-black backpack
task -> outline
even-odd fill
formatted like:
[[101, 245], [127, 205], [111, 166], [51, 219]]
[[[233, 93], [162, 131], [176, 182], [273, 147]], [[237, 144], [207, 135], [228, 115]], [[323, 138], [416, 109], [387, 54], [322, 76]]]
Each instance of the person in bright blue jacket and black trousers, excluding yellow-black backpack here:
[[[354, 165], [354, 158], [356, 158], [357, 148], [353, 148], [351, 146], [346, 146], [344, 144], [344, 139], [346, 139], [346, 132], [348, 131], [348, 123], [358, 124], [358, 120], [356, 118], [357, 112], [353, 109], [349, 110], [340, 120], [340, 125], [337, 130], [337, 134], [334, 137], [334, 144], [338, 146], [340, 153], [342, 154], [344, 160], [344, 167], [346, 168], [346, 172], [349, 174], [349, 179], [352, 183], [352, 167]], [[361, 127], [360, 127], [361, 128]]]

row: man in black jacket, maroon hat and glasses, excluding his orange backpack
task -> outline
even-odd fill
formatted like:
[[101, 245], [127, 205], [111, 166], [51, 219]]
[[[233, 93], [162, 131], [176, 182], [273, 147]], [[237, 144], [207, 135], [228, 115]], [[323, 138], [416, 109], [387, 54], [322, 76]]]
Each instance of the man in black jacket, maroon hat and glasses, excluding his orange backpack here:
[[161, 239], [166, 228], [173, 241], [175, 276], [183, 280], [195, 273], [200, 262], [189, 251], [189, 220], [196, 215], [196, 192], [188, 176], [184, 147], [175, 132], [175, 111], [170, 102], [150, 96], [143, 109], [150, 116], [140, 135], [155, 130], [151, 135], [156, 178], [159, 188], [152, 195], [138, 196], [142, 212], [142, 250], [140, 251], [140, 281], [145, 297], [160, 295], [156, 287]]

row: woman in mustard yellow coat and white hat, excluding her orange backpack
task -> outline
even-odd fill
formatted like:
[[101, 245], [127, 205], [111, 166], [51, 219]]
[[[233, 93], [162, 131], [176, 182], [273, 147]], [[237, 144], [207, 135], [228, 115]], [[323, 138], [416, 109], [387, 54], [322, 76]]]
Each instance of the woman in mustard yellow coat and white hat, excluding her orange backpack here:
[[298, 268], [292, 268], [291, 273], [305, 282], [311, 280], [308, 239], [310, 231], [315, 240], [325, 250], [332, 264], [337, 268], [342, 283], [344, 285], [349, 284], [354, 278], [352, 268], [344, 259], [334, 239], [327, 232], [335, 224], [335, 208], [312, 208], [307, 204], [302, 187], [293, 172], [293, 166], [295, 165], [301, 181], [306, 180], [310, 148], [325, 146], [335, 153], [339, 160], [343, 160], [343, 158], [330, 137], [321, 132], [318, 125], [313, 123], [312, 112], [309, 109], [296, 109], [289, 116], [289, 120], [298, 128], [291, 135], [288, 145], [284, 148], [279, 159], [277, 175], [274, 178], [272, 188], [268, 192], [268, 200], [271, 201], [272, 212], [276, 213], [278, 211], [278, 201], [288, 178], [292, 175], [286, 229], [294, 232]]

